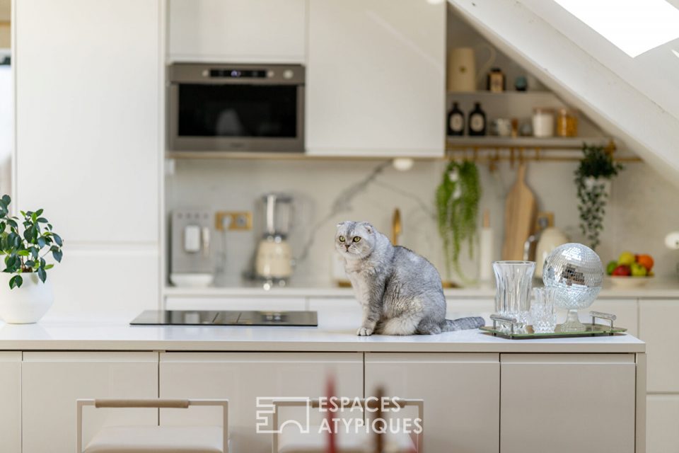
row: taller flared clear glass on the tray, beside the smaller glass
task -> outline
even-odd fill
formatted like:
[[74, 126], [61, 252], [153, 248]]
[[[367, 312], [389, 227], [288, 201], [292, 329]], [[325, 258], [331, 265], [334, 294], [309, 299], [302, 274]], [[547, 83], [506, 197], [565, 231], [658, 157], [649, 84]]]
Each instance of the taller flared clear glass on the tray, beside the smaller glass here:
[[530, 286], [535, 272], [534, 261], [495, 261], [495, 311], [517, 321], [525, 328], [530, 314]]

